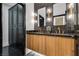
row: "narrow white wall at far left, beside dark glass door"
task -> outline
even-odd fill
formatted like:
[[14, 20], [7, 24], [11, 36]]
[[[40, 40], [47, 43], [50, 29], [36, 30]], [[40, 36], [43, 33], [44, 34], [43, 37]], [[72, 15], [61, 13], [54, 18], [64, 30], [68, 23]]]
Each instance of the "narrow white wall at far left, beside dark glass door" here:
[[3, 29], [3, 47], [8, 46], [8, 9], [11, 8], [14, 4], [2, 4], [2, 29]]

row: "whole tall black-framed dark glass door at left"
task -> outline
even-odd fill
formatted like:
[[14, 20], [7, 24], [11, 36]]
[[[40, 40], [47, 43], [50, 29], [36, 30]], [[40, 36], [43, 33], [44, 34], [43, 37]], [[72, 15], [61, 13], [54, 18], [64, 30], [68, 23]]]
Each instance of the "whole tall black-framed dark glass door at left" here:
[[9, 46], [25, 52], [25, 5], [18, 3], [9, 9]]

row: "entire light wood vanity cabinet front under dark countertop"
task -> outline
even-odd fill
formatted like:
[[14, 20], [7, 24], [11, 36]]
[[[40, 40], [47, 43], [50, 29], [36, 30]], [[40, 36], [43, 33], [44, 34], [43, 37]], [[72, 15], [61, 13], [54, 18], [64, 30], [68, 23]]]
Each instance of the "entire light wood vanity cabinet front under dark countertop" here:
[[27, 48], [47, 56], [74, 56], [76, 40], [72, 37], [28, 34]]

